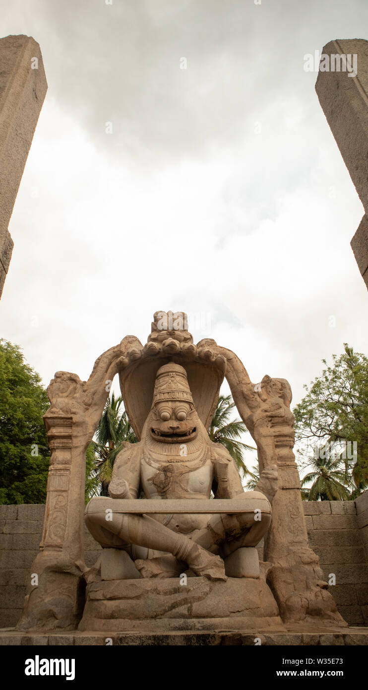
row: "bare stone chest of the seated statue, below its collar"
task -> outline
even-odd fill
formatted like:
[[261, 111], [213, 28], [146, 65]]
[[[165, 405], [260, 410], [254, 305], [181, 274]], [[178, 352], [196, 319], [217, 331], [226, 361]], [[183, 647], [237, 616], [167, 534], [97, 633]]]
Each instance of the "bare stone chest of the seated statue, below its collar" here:
[[209, 457], [150, 456], [141, 460], [141, 482], [147, 498], [209, 498], [213, 467]]

